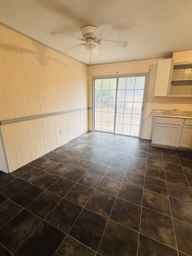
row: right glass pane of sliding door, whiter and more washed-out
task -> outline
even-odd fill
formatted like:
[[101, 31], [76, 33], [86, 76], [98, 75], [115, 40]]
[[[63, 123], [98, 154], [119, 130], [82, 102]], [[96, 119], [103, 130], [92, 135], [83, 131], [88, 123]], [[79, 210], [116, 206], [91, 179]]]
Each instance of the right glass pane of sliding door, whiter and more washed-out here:
[[119, 78], [115, 133], [139, 136], [144, 86], [145, 76]]

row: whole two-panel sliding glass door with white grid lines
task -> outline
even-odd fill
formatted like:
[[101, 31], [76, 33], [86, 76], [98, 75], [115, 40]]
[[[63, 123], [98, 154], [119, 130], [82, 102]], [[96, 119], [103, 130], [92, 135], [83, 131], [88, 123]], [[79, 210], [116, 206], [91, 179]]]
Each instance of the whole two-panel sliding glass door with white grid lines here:
[[145, 80], [146, 76], [94, 80], [95, 131], [139, 137]]

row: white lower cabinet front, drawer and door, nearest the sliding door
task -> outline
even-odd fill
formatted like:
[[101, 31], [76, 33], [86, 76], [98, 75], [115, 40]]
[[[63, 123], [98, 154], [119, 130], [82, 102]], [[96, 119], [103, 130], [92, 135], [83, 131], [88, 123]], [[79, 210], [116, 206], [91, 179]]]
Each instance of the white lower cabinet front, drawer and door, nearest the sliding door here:
[[174, 148], [178, 147], [183, 124], [184, 119], [155, 117], [152, 145], [164, 145]]

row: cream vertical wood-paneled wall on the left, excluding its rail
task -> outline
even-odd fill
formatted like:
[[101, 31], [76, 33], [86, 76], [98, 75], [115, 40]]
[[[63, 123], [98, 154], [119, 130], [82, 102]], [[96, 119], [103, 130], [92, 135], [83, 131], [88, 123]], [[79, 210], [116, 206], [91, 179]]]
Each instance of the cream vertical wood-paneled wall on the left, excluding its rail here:
[[[0, 35], [0, 120], [88, 107], [87, 65], [3, 26]], [[1, 128], [13, 171], [88, 131], [88, 110]]]

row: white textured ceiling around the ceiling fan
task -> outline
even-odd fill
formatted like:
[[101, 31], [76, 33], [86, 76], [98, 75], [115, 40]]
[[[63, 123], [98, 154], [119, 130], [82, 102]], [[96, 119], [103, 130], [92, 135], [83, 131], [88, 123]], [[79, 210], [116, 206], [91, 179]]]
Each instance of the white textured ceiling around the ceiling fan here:
[[[97, 38], [127, 41], [125, 48], [101, 41], [92, 64], [170, 56], [192, 48], [191, 0], [0, 0], [0, 21], [89, 64], [81, 28]], [[60, 33], [52, 35], [52, 32]]]

